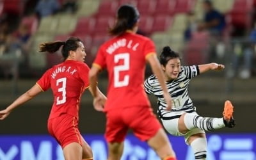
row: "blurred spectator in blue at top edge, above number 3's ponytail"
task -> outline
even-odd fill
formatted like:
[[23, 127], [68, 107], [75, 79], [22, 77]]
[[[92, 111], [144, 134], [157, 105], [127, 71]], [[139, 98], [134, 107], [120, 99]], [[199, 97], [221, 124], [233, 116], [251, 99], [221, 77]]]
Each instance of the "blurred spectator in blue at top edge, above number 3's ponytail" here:
[[52, 15], [60, 10], [60, 4], [57, 0], [40, 0], [36, 4], [35, 12], [39, 19]]

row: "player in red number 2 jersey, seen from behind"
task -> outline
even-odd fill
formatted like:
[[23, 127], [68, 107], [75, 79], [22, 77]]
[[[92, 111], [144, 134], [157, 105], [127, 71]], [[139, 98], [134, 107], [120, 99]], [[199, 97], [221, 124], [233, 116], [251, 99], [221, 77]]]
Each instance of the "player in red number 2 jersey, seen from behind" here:
[[[168, 109], [172, 108], [172, 99], [164, 83], [154, 43], [136, 34], [139, 17], [134, 6], [123, 5], [118, 9], [116, 24], [110, 30], [115, 37], [100, 46], [89, 72], [93, 97], [97, 102], [94, 107], [97, 111], [106, 112], [108, 160], [121, 158], [128, 129], [132, 129], [140, 140], [147, 141], [161, 159], [174, 160], [175, 152], [143, 90], [145, 64], [148, 61], [161, 82]], [[104, 99], [97, 93], [97, 75], [104, 68], [109, 76], [105, 105]]]

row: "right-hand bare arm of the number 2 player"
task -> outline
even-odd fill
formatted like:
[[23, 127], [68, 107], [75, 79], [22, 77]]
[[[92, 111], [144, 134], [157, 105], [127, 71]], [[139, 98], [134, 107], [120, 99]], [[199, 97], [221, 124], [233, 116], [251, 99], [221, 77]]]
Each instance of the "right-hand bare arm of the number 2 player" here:
[[163, 95], [164, 95], [164, 100], [166, 101], [167, 108], [168, 110], [172, 109], [172, 97], [170, 93], [168, 92], [166, 83], [164, 81], [164, 73], [163, 70], [161, 69], [161, 65], [156, 57], [156, 54], [150, 54], [147, 56], [147, 61], [150, 64], [150, 67], [152, 68], [152, 71], [156, 75], [161, 88], [163, 90]]

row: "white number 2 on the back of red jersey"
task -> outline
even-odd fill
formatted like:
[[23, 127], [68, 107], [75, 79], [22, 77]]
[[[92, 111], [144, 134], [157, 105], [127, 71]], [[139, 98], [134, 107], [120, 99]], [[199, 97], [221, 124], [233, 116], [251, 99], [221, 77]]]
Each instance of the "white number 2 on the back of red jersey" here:
[[120, 72], [129, 70], [130, 68], [130, 54], [129, 53], [120, 53], [114, 56], [114, 62], [118, 63], [118, 61], [124, 60], [123, 65], [116, 65], [114, 67], [114, 87], [122, 87], [128, 86], [129, 84], [129, 75], [125, 75], [124, 79], [120, 79]]

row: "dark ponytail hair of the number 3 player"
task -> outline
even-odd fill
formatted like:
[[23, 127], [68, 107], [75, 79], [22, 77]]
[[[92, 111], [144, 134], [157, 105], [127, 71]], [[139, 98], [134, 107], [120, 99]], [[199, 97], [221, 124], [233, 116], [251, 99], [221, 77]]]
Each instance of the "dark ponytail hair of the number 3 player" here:
[[39, 51], [54, 53], [60, 49], [61, 45], [63, 45], [61, 49], [61, 53], [64, 60], [66, 60], [68, 58], [69, 51], [76, 51], [76, 49], [80, 47], [78, 42], [81, 42], [81, 40], [77, 37], [70, 37], [66, 42], [65, 41], [44, 42], [39, 45]]

